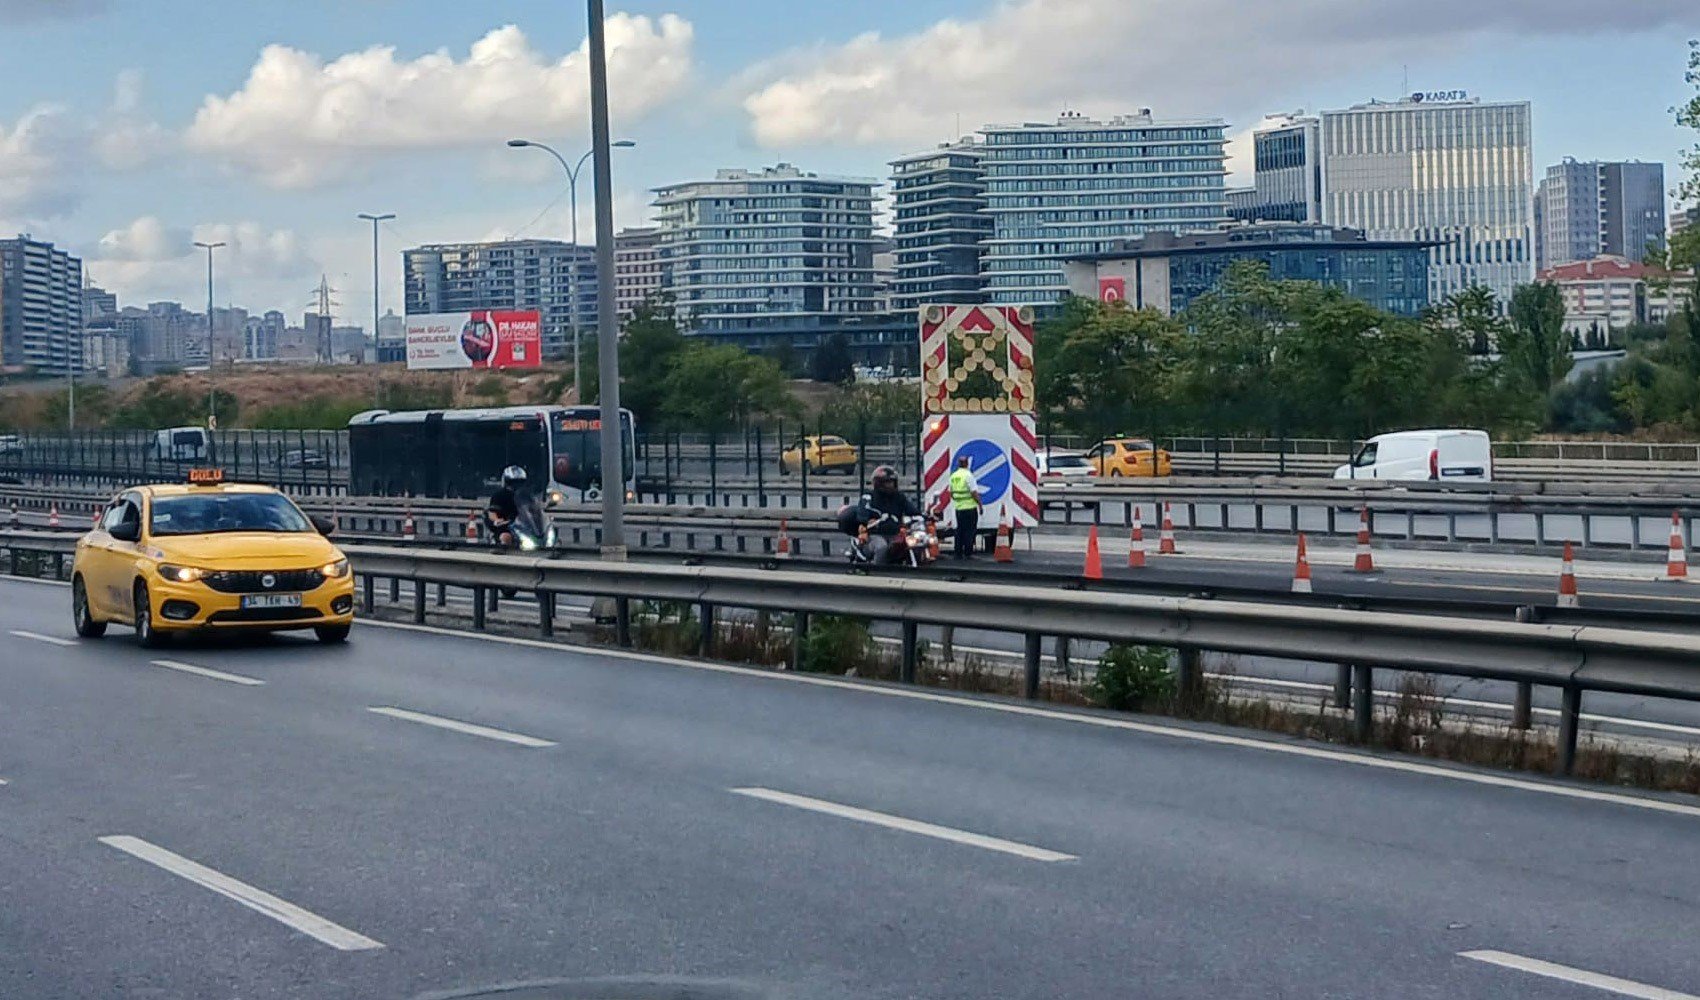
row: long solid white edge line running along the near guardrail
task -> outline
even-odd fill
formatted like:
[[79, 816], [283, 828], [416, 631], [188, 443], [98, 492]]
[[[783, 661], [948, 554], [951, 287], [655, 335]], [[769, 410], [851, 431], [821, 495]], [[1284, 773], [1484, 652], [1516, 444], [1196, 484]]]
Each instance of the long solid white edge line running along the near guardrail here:
[[1443, 777], [1447, 781], [1464, 781], [1470, 784], [1484, 784], [1493, 787], [1511, 787], [1518, 791], [1528, 791], [1545, 796], [1559, 796], [1566, 799], [1583, 799], [1591, 803], [1610, 803], [1613, 806], [1629, 806], [1634, 810], [1651, 810], [1654, 813], [1671, 813], [1676, 816], [1700, 818], [1700, 806], [1685, 806], [1681, 803], [1668, 803], [1652, 798], [1630, 796], [1608, 791], [1595, 791], [1590, 787], [1574, 787], [1566, 784], [1547, 784], [1538, 781], [1527, 781], [1520, 777], [1508, 777], [1499, 774], [1472, 774], [1467, 770], [1454, 770], [1450, 767], [1440, 767], [1435, 764], [1416, 764], [1411, 760], [1394, 760], [1387, 757], [1372, 757], [1368, 753], [1353, 753], [1345, 750], [1328, 750], [1323, 747], [1311, 747], [1302, 743], [1277, 743], [1273, 740], [1258, 740], [1253, 736], [1229, 736], [1226, 733], [1205, 733], [1200, 730], [1182, 730], [1178, 726], [1159, 726], [1154, 723], [1136, 723], [1132, 719], [1117, 719], [1110, 716], [1096, 716], [1086, 713], [1069, 713], [1062, 709], [1047, 709], [1027, 704], [1012, 704], [989, 699], [962, 697], [955, 694], [935, 694], [932, 690], [916, 690], [908, 687], [886, 687], [874, 685], [858, 680], [836, 680], [831, 677], [818, 677], [813, 673], [794, 673], [789, 670], [762, 670], [756, 667], [731, 667], [728, 663], [702, 663], [694, 660], [673, 660], [668, 656], [656, 656], [653, 653], [632, 653], [629, 650], [604, 650], [598, 646], [568, 646], [561, 643], [546, 643], [542, 639], [524, 639], [518, 636], [493, 636], [486, 633], [461, 633], [454, 629], [444, 629], [437, 626], [418, 626], [411, 622], [396, 621], [366, 621], [367, 626], [398, 629], [398, 631], [415, 631], [435, 636], [454, 636], [461, 639], [478, 639], [484, 643], [503, 643], [508, 646], [529, 646], [534, 650], [549, 650], [554, 653], [580, 653], [585, 656], [609, 656], [614, 660], [638, 660], [644, 663], [661, 663], [666, 667], [687, 667], [690, 670], [707, 670], [711, 673], [733, 673], [738, 677], [758, 679], [758, 680], [782, 680], [787, 684], [813, 684], [816, 687], [835, 687], [840, 690], [855, 690], [858, 694], [870, 694], [879, 697], [903, 697], [911, 701], [930, 701], [933, 704], [950, 704], [959, 707], [971, 707], [986, 713], [1003, 713], [1012, 716], [1028, 716], [1037, 719], [1052, 719], [1059, 723], [1073, 723], [1076, 726], [1096, 726], [1102, 730], [1124, 730], [1129, 733], [1149, 733], [1154, 736], [1171, 736], [1175, 740], [1192, 740], [1195, 743], [1212, 743], [1216, 747], [1239, 747], [1244, 750], [1263, 750], [1266, 753], [1285, 753], [1289, 757], [1309, 757], [1312, 760], [1334, 760], [1338, 764], [1355, 764], [1358, 767], [1374, 767], [1379, 770], [1401, 770], [1404, 774], [1421, 774], [1425, 777]]

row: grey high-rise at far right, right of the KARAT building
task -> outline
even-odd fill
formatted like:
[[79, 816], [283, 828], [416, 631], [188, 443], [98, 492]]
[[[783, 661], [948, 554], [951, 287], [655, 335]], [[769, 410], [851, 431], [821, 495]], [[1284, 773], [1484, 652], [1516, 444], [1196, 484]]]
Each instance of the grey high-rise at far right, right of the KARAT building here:
[[1663, 163], [1578, 163], [1547, 167], [1535, 196], [1540, 270], [1622, 257], [1642, 260], [1664, 245]]

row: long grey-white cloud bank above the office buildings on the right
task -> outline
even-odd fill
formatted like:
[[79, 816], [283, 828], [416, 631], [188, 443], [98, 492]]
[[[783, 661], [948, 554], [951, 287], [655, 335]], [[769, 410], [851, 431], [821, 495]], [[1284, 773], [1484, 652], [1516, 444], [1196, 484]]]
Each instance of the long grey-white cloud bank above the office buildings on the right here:
[[920, 143], [947, 138], [957, 114], [1049, 119], [1064, 104], [1244, 116], [1287, 100], [1285, 82], [1454, 56], [1484, 37], [1693, 26], [1693, 0], [1635, 0], [1610, 17], [1591, 0], [1003, 0], [979, 19], [792, 53], [751, 75], [743, 107], [763, 146]]

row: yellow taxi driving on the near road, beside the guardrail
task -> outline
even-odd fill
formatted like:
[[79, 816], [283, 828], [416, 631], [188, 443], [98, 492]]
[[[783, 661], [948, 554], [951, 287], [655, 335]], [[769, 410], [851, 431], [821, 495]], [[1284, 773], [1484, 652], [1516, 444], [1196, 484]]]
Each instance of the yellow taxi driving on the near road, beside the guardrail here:
[[133, 486], [76, 543], [76, 634], [134, 626], [143, 646], [190, 629], [306, 629], [340, 643], [354, 624], [354, 575], [308, 517], [270, 486], [224, 483], [192, 469], [187, 483]]

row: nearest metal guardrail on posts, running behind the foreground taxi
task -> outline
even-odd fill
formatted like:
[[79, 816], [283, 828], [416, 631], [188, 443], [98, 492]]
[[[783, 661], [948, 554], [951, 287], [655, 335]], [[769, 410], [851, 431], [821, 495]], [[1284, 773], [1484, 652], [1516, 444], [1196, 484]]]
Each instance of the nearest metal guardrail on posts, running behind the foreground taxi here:
[[[46, 553], [63, 573], [75, 537], [65, 532], [0, 532], [10, 566], [24, 553]], [[925, 578], [830, 577], [797, 571], [751, 571], [731, 566], [660, 566], [592, 560], [515, 558], [510, 554], [420, 551], [352, 546], [347, 551], [362, 583], [362, 604], [374, 607], [377, 580], [411, 582], [413, 612], [425, 617], [428, 585], [473, 590], [473, 628], [486, 628], [491, 588], [537, 595], [539, 628], [552, 633], [554, 597], [581, 594], [614, 600], [615, 639], [631, 645], [631, 602], [666, 600], [699, 607], [702, 655], [714, 655], [719, 607], [796, 614], [794, 656], [809, 616], [855, 616], [901, 624], [899, 680], [915, 682], [918, 626], [957, 626], [1018, 633], [1025, 638], [1023, 692], [1039, 696], [1044, 636], [1144, 643], [1180, 651], [1180, 687], [1202, 682], [1200, 653], [1224, 651], [1350, 663], [1353, 716], [1367, 738], [1374, 714], [1377, 667], [1452, 677], [1516, 682], [1562, 690], [1557, 770], [1576, 759], [1583, 692], [1622, 692], [1700, 701], [1700, 636], [1603, 626], [1489, 622], [1462, 617], [1292, 607], [1244, 600], [1035, 590]]]

